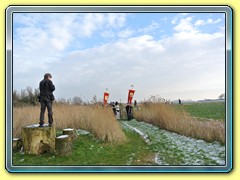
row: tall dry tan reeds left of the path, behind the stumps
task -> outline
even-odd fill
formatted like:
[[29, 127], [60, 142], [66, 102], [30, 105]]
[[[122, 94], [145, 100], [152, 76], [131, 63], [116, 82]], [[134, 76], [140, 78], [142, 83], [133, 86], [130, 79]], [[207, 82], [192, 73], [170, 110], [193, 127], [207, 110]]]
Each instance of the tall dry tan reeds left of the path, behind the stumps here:
[[[14, 107], [13, 135], [21, 136], [21, 127], [39, 123], [40, 107]], [[54, 105], [54, 125], [58, 129], [75, 128], [92, 132], [97, 138], [108, 142], [124, 142], [125, 135], [115, 119], [111, 108], [99, 105]], [[47, 123], [47, 111], [45, 123]]]

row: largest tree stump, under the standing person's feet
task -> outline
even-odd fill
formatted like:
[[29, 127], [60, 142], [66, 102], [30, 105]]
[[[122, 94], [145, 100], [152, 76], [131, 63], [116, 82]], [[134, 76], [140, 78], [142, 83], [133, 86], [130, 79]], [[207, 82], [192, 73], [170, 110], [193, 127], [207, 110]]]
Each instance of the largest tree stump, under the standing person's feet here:
[[38, 127], [38, 124], [22, 128], [23, 150], [27, 154], [54, 152], [56, 129], [54, 126]]

